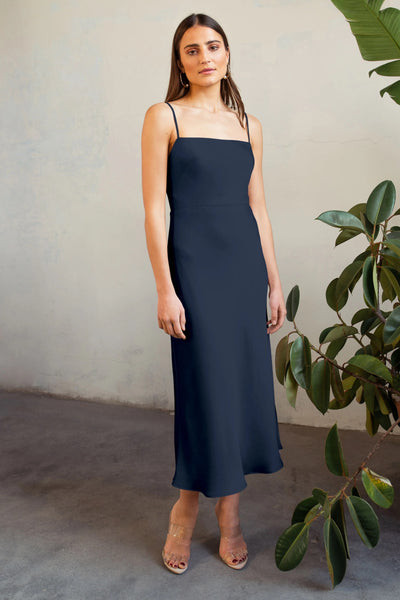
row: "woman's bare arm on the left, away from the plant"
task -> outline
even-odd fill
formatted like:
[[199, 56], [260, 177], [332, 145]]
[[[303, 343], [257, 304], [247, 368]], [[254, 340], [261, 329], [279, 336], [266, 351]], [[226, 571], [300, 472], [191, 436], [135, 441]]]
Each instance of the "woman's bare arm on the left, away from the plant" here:
[[171, 109], [164, 102], [150, 106], [144, 117], [141, 140], [144, 224], [147, 250], [158, 293], [158, 325], [166, 333], [185, 339], [185, 310], [171, 279], [165, 222], [171, 119]]

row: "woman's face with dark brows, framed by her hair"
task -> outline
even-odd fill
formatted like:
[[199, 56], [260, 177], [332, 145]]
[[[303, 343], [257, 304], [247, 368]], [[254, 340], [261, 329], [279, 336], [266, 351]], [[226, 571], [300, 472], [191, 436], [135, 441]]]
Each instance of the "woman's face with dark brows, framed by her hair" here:
[[190, 84], [215, 84], [226, 75], [229, 50], [214, 29], [203, 25], [189, 27], [181, 38], [179, 50], [181, 64], [178, 61], [178, 66]]

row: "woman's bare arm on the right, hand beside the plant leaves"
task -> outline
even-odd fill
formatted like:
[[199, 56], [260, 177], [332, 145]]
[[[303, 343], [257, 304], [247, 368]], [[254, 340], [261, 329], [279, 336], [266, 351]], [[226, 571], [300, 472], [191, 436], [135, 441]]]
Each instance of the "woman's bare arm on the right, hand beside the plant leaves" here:
[[249, 202], [257, 221], [263, 255], [267, 265], [269, 304], [271, 308], [270, 320], [268, 323], [272, 323], [272, 326], [268, 328], [268, 332], [274, 333], [280, 327], [282, 327], [284, 323], [286, 305], [275, 257], [272, 226], [268, 216], [264, 195], [264, 181], [262, 174], [262, 127], [260, 121], [256, 117], [252, 115], [247, 116], [249, 118], [250, 139], [255, 160], [254, 169], [249, 183]]

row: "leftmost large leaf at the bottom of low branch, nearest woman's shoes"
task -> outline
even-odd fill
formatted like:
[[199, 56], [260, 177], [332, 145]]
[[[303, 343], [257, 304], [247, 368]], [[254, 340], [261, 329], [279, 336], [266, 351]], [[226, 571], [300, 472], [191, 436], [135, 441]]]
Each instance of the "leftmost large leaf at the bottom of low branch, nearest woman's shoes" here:
[[279, 537], [275, 546], [275, 564], [281, 571], [290, 571], [301, 563], [307, 551], [310, 525], [295, 523]]

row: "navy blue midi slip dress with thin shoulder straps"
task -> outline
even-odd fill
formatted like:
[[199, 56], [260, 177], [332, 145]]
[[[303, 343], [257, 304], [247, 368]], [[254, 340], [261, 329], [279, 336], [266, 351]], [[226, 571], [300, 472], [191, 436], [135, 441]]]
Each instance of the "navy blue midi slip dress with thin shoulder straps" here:
[[180, 137], [168, 157], [168, 262], [186, 315], [171, 337], [172, 485], [220, 497], [249, 473], [283, 467], [270, 338], [268, 272], [249, 204], [248, 141]]

